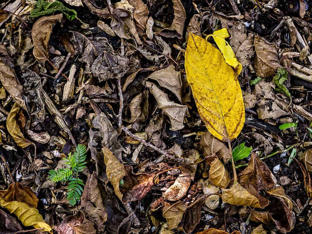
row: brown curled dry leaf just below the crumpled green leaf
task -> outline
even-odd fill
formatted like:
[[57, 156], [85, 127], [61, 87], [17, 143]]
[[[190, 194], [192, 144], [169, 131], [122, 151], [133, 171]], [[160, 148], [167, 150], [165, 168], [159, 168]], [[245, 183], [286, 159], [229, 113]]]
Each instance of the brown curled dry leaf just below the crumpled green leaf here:
[[48, 44], [52, 28], [61, 22], [63, 14], [43, 16], [32, 26], [32, 41], [34, 42], [33, 54], [37, 61], [46, 61], [49, 56]]

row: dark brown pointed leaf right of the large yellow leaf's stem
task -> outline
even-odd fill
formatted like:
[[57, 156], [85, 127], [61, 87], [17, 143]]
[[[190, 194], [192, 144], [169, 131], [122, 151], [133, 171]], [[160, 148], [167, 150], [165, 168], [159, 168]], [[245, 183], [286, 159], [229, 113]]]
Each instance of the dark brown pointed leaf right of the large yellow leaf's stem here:
[[251, 153], [251, 158], [247, 167], [238, 174], [237, 178], [238, 183], [247, 190], [249, 190], [250, 185], [252, 185], [257, 192], [260, 192], [260, 190], [267, 190], [274, 186], [270, 169], [255, 153]]

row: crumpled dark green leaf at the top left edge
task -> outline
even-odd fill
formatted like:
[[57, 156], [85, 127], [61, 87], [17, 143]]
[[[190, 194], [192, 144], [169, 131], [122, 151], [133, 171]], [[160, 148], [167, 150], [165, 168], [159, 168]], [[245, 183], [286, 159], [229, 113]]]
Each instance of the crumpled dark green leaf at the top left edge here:
[[64, 4], [59, 1], [46, 2], [38, 0], [34, 5], [34, 9], [30, 13], [30, 17], [36, 18], [49, 15], [54, 12], [62, 12], [69, 20], [73, 20], [77, 16], [77, 12], [75, 10], [65, 7]]

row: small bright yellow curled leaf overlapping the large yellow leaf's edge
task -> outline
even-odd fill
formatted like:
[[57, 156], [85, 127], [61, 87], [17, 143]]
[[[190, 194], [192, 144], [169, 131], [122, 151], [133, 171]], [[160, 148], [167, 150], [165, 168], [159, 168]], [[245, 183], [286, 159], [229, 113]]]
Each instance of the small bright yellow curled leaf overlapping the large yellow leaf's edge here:
[[217, 46], [222, 52], [225, 62], [234, 68], [235, 71], [234, 76], [237, 78], [237, 76], [241, 73], [242, 66], [241, 63], [237, 61], [234, 51], [232, 50], [232, 47], [225, 40], [225, 38], [230, 37], [229, 32], [227, 32], [226, 28], [222, 28], [220, 30], [213, 32], [213, 34], [208, 35], [208, 37], [210, 36], [213, 37]]

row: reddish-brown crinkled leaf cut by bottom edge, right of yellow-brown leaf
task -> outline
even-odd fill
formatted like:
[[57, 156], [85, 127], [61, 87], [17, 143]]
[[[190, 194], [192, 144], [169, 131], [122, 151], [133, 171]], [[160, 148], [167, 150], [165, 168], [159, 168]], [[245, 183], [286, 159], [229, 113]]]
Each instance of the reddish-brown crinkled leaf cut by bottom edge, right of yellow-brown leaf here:
[[82, 211], [78, 211], [75, 215], [67, 216], [57, 226], [56, 232], [59, 234], [95, 234], [96, 231], [90, 222], [85, 218]]

